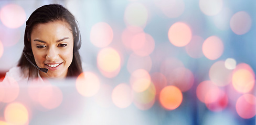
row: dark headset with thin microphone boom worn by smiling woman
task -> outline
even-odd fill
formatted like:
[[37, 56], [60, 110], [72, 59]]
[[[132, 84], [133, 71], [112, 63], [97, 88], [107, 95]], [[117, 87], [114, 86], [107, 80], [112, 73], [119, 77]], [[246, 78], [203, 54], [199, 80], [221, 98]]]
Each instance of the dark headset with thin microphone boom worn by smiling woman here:
[[[74, 48], [73, 48], [73, 53], [77, 53], [78, 50], [81, 48], [81, 44], [82, 44], [82, 42], [81, 42], [81, 34], [80, 34], [80, 30], [79, 30], [79, 27], [78, 27], [78, 22], [77, 22], [76, 19], [75, 19], [75, 22], [76, 22], [76, 24], [74, 25], [74, 32], [75, 32], [76, 34], [74, 34]], [[27, 25], [26, 25], [26, 30], [27, 30]], [[28, 33], [28, 32], [27, 32], [27, 33]], [[29, 36], [29, 35], [27, 34], [27, 36]], [[27, 39], [30, 41], [30, 37], [28, 37]], [[30, 43], [30, 44], [31, 44], [31, 43]], [[32, 61], [29, 59], [29, 57], [28, 57], [28, 56], [33, 56], [33, 54], [31, 54], [31, 52], [27, 51], [28, 49], [26, 49], [27, 46], [26, 46], [25, 41], [24, 41], [24, 45], [25, 45], [25, 46], [24, 46], [24, 49], [23, 49], [23, 54], [24, 54], [24, 56], [26, 57], [26, 59], [29, 61], [29, 63], [30, 63], [32, 66], [34, 66], [35, 68], [37, 68], [38, 70], [47, 73], [47, 72], [48, 72], [48, 69], [46, 69], [46, 68], [40, 68], [40, 67], [36, 66], [35, 64], [33, 64], [33, 62], [32, 62]]]

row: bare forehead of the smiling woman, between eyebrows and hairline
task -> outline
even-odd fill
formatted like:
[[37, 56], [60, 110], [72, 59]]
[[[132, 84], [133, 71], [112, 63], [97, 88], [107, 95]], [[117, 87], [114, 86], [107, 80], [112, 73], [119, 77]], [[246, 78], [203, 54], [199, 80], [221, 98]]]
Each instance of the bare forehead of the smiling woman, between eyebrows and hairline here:
[[31, 37], [35, 35], [58, 37], [58, 35], [72, 35], [72, 30], [67, 22], [57, 20], [36, 24], [31, 31]]

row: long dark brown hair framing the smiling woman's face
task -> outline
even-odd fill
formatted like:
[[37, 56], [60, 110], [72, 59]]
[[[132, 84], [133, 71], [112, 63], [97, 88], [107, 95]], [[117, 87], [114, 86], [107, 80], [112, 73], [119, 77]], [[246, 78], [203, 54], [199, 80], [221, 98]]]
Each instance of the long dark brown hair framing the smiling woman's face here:
[[[65, 7], [58, 4], [44, 5], [36, 9], [26, 21], [26, 29], [24, 34], [24, 52], [29, 56], [31, 62], [36, 65], [35, 58], [31, 49], [31, 38], [30, 34], [33, 28], [40, 23], [48, 23], [53, 21], [65, 21], [71, 27], [73, 34], [73, 59], [71, 65], [68, 68], [67, 77], [77, 77], [82, 73], [81, 58], [78, 50], [81, 47], [81, 34], [78, 27], [78, 22], [76, 18], [69, 12]], [[22, 68], [23, 72], [26, 72], [29, 69], [28, 77], [35, 78], [38, 77], [37, 69], [32, 66], [29, 61], [26, 59], [24, 54], [20, 57], [18, 66]]]

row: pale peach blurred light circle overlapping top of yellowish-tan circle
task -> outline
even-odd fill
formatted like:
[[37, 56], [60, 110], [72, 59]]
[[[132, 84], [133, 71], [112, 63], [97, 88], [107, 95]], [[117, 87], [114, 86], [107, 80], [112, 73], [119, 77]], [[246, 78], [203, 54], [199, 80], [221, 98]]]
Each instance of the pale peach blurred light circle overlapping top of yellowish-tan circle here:
[[135, 92], [143, 92], [151, 84], [150, 74], [145, 69], [137, 69], [132, 72], [130, 83]]

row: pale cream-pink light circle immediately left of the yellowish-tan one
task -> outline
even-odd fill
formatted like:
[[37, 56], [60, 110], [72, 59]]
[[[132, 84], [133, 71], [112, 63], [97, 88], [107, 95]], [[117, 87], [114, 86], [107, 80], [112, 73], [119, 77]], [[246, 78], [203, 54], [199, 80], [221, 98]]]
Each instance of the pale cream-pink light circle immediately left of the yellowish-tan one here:
[[112, 101], [119, 108], [126, 108], [132, 104], [132, 90], [129, 85], [121, 83], [112, 92]]

